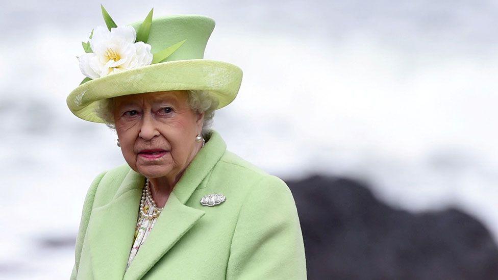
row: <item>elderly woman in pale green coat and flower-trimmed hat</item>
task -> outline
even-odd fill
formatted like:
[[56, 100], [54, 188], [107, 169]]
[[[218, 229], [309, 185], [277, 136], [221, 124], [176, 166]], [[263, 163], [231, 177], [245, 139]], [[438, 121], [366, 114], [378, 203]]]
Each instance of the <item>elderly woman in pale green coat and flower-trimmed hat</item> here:
[[115, 129], [126, 164], [88, 189], [71, 279], [306, 279], [289, 188], [209, 129], [242, 79], [203, 59], [214, 20], [151, 11], [116, 27], [102, 10], [67, 104]]

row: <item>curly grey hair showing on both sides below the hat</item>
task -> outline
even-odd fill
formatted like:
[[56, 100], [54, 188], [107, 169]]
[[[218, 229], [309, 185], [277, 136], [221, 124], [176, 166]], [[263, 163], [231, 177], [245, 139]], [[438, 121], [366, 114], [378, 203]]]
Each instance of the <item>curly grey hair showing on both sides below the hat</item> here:
[[[204, 123], [202, 127], [202, 135], [206, 135], [211, 130], [213, 123], [214, 111], [218, 107], [218, 99], [209, 94], [206, 90], [186, 90], [187, 104], [196, 113], [204, 112]], [[94, 109], [95, 114], [102, 118], [108, 128], [116, 130], [114, 124], [114, 99], [106, 98], [99, 100]]]

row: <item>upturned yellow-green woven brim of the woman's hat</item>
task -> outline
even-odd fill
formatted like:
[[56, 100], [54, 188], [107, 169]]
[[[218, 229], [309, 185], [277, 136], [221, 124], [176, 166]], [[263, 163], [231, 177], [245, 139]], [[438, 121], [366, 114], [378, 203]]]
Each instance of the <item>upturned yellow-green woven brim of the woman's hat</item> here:
[[207, 90], [218, 107], [230, 104], [242, 82], [242, 69], [216, 60], [188, 59], [150, 64], [90, 80], [67, 96], [69, 110], [79, 118], [104, 123], [94, 110], [99, 101], [128, 94], [168, 90]]

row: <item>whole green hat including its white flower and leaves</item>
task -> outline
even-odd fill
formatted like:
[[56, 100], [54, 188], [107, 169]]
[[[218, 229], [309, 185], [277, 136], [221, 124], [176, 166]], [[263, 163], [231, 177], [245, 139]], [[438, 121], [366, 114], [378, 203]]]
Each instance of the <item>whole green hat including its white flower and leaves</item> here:
[[94, 112], [104, 99], [145, 92], [207, 90], [219, 101], [216, 109], [234, 100], [242, 70], [231, 63], [204, 59], [214, 19], [193, 14], [152, 19], [151, 10], [145, 20], [127, 24], [136, 32], [135, 42], [130, 27], [121, 29], [121, 37], [112, 37], [120, 26], [116, 27], [103, 6], [102, 11], [108, 30], [97, 27], [89, 41], [83, 42], [85, 53], [78, 60], [87, 78], [66, 99], [74, 115], [104, 123]]

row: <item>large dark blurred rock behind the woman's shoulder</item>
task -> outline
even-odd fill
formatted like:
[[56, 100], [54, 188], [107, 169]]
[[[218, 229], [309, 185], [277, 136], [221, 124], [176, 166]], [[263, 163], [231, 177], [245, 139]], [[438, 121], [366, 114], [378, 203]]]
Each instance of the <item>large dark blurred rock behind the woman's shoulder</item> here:
[[298, 210], [312, 279], [498, 279], [487, 228], [457, 209], [394, 209], [355, 180], [286, 181]]

